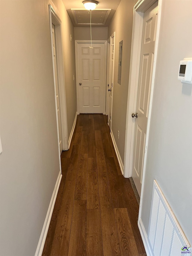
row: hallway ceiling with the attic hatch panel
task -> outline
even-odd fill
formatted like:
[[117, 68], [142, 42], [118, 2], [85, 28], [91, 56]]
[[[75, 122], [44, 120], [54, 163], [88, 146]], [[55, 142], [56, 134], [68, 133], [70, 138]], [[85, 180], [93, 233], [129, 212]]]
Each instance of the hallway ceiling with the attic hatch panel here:
[[[84, 8], [83, 0], [62, 0], [74, 26], [90, 26], [90, 13]], [[98, 0], [91, 12], [91, 26], [107, 27], [121, 0]]]

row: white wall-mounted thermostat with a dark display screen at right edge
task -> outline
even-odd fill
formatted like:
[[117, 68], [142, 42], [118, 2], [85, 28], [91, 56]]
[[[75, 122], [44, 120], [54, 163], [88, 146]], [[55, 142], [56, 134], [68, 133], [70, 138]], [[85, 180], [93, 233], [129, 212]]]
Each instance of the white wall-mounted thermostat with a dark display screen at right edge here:
[[184, 58], [180, 61], [178, 80], [192, 84], [192, 58]]

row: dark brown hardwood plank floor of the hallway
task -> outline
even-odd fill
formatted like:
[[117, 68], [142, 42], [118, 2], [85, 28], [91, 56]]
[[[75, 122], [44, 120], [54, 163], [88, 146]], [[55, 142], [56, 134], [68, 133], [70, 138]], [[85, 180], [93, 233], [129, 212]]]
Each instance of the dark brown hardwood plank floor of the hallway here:
[[61, 168], [42, 255], [144, 255], [139, 206], [130, 180], [122, 176], [107, 116], [77, 116], [70, 149], [61, 154]]

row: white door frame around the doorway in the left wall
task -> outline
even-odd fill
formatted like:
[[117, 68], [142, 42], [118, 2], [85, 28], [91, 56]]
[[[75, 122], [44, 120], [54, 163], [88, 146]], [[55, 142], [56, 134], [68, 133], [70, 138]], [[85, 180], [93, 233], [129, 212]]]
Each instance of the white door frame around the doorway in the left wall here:
[[[51, 5], [49, 5], [49, 23], [51, 31], [51, 43], [52, 38], [52, 24], [55, 25], [55, 41], [56, 41], [56, 55], [57, 55], [57, 71], [58, 71], [58, 86], [59, 86], [59, 100], [61, 110], [61, 129], [62, 129], [62, 142], [63, 149], [67, 150], [68, 147], [68, 131], [67, 131], [67, 107], [66, 107], [66, 95], [65, 95], [65, 81], [64, 81], [64, 64], [63, 64], [63, 48], [62, 48], [62, 25], [61, 20], [55, 13]], [[57, 99], [56, 99], [56, 84], [55, 84], [55, 72], [54, 72], [54, 58], [53, 60], [53, 76], [54, 76], [54, 87], [55, 87], [55, 107], [56, 107], [56, 118], [57, 118], [57, 133], [58, 133], [58, 116], [57, 116]], [[59, 147], [59, 133], [58, 133], [58, 147]], [[60, 155], [60, 152], [59, 152]], [[60, 158], [60, 157], [59, 157]]]

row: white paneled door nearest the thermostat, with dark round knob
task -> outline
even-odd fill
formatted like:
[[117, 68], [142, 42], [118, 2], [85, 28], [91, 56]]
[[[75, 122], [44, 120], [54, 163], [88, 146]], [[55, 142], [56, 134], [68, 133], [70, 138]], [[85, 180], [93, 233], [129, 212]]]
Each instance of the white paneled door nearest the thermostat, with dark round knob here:
[[[155, 2], [144, 13], [139, 84], [137, 92], [137, 117], [133, 117], [135, 119], [135, 132], [132, 177], [139, 195], [141, 195], [143, 176], [143, 158], [145, 152], [146, 128], [149, 113], [151, 74], [154, 60], [153, 56], [155, 49], [157, 13], [158, 1]], [[136, 113], [134, 114], [136, 115]]]

